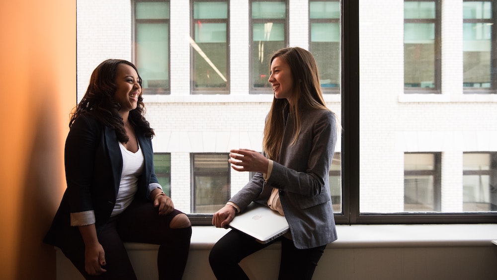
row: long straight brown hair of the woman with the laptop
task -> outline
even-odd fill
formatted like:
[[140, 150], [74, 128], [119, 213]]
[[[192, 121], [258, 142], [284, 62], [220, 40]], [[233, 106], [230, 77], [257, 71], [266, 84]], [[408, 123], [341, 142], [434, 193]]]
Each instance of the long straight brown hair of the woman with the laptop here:
[[272, 160], [278, 159], [281, 149], [284, 129], [283, 114], [287, 107], [290, 114], [294, 116], [292, 119], [295, 130], [292, 144], [295, 143], [301, 131], [303, 109], [329, 110], [323, 99], [319, 71], [312, 54], [299, 47], [283, 48], [272, 55], [269, 65], [277, 57], [283, 59], [290, 67], [294, 84], [291, 102], [284, 98], [273, 97], [264, 126], [262, 148], [267, 158]]

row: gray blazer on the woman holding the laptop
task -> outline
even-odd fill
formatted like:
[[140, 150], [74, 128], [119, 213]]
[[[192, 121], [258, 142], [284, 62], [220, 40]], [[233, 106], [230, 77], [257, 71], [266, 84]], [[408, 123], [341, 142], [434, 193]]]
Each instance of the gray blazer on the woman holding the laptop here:
[[292, 116], [285, 126], [282, 148], [264, 182], [256, 173], [230, 201], [243, 211], [250, 202], [267, 205], [273, 188], [279, 190], [281, 206], [298, 249], [326, 245], [336, 240], [331, 207], [329, 170], [336, 143], [336, 122], [331, 111], [304, 112], [302, 129], [293, 140]]

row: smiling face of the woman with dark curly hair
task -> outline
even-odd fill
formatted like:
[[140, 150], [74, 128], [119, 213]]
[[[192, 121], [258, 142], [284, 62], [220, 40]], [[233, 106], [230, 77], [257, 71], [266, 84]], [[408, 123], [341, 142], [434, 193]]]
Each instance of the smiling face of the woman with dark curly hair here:
[[142, 87], [138, 81], [138, 73], [133, 67], [123, 63], [117, 66], [115, 79], [117, 88], [114, 98], [121, 105], [119, 113], [129, 113], [136, 109], [138, 96], [142, 93]]

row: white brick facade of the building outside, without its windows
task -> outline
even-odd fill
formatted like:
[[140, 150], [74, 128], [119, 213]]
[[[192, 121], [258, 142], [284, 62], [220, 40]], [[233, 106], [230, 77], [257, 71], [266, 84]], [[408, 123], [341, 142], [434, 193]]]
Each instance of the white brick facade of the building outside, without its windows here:
[[[441, 94], [404, 93], [404, 2], [363, 0], [360, 5], [360, 208], [404, 211], [404, 154], [441, 153], [441, 211], [463, 211], [463, 152], [497, 151], [495, 94], [464, 94], [462, 0], [442, 1]], [[79, 0], [78, 100], [103, 60], [133, 62], [130, 0]], [[261, 149], [271, 94], [249, 93], [249, 1], [231, 0], [228, 95], [192, 95], [190, 3], [170, 1], [170, 94], [145, 95], [156, 131], [155, 152], [171, 154], [171, 196], [191, 209], [190, 153]], [[309, 5], [288, 1], [290, 46], [309, 48]], [[346, 93], [345, 93], [346, 94]], [[341, 114], [339, 94], [326, 94]], [[336, 151], [340, 152], [338, 144]], [[231, 192], [248, 173], [231, 171]]]

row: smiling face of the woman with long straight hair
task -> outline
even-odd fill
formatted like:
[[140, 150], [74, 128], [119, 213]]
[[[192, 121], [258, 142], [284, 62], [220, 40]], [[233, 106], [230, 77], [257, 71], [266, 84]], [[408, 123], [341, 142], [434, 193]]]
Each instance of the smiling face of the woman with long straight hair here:
[[271, 74], [268, 81], [271, 83], [275, 98], [286, 98], [290, 101], [293, 96], [292, 72], [290, 66], [281, 57], [276, 57], [271, 62]]

